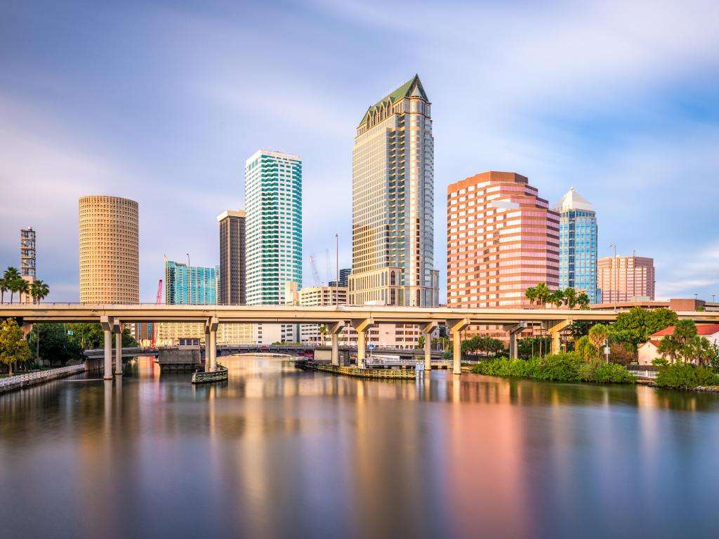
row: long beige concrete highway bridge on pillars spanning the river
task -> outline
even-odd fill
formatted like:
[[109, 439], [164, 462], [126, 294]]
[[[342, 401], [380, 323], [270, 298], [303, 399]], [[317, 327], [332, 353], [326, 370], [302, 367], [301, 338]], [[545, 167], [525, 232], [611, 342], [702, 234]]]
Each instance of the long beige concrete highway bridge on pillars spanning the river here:
[[[425, 336], [425, 369], [431, 368], [430, 334], [439, 324], [452, 332], [453, 370], [461, 374], [459, 332], [470, 325], [503, 326], [509, 333], [510, 355], [516, 356], [516, 336], [530, 323], [539, 323], [551, 335], [551, 350], [559, 350], [562, 330], [575, 321], [611, 322], [618, 312], [569, 309], [453, 309], [333, 305], [296, 307], [290, 305], [78, 305], [24, 304], [0, 305], [0, 318], [18, 318], [29, 325], [40, 322], [100, 322], [104, 329], [105, 377], [112, 377], [112, 334], [117, 354], [122, 350], [122, 323], [197, 322], [205, 324], [206, 369], [216, 365], [216, 332], [220, 323], [320, 323], [331, 336], [331, 359], [339, 364], [339, 338], [351, 325], [357, 331], [357, 366], [365, 367], [367, 329], [378, 323], [412, 323]], [[717, 311], [683, 311], [679, 318], [697, 322], [718, 322]], [[122, 360], [116, 361], [115, 374], [122, 374]]]

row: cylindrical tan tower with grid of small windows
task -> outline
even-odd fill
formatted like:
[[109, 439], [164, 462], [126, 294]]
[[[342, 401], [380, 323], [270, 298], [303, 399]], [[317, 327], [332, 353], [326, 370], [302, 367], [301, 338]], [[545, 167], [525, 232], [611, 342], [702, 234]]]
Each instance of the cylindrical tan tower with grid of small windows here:
[[80, 199], [80, 303], [139, 303], [137, 202]]

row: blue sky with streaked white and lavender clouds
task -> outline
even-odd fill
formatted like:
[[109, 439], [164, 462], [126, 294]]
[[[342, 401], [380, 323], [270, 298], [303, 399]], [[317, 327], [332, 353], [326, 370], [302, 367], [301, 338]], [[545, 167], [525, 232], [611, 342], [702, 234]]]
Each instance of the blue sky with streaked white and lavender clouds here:
[[[352, 258], [352, 144], [418, 73], [432, 103], [435, 267], [446, 186], [518, 172], [595, 206], [601, 256], [654, 257], [656, 296], [719, 297], [719, 3], [0, 3], [0, 267], [37, 231], [48, 301], [79, 298], [78, 198], [139, 203], [140, 300], [163, 257], [218, 264], [257, 149], [303, 160], [303, 280]], [[329, 250], [329, 260], [326, 253]], [[332, 267], [328, 275], [327, 268]]]

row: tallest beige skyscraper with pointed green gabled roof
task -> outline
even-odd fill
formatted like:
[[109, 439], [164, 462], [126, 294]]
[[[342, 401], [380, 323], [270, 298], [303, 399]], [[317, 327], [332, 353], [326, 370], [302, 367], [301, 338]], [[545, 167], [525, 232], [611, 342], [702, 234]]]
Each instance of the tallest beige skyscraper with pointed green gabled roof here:
[[370, 106], [352, 149], [349, 303], [436, 306], [434, 138], [418, 75]]

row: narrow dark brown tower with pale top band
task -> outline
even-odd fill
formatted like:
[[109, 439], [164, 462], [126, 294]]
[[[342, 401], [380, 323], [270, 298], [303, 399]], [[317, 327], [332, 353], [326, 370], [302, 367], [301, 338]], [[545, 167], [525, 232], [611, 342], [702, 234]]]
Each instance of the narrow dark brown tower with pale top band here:
[[247, 303], [245, 273], [245, 213], [227, 210], [217, 216], [220, 224], [220, 285], [221, 305]]

